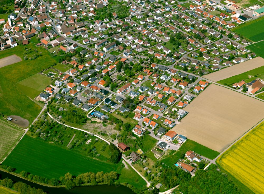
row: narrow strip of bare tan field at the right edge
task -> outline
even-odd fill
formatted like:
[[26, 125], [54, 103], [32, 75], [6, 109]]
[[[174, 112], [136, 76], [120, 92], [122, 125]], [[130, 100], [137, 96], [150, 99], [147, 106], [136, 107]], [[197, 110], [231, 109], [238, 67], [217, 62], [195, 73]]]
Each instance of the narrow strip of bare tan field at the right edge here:
[[210, 73], [208, 75], [203, 76], [204, 78], [211, 80], [211, 81], [220, 81], [226, 78], [244, 73], [246, 71], [258, 68], [263, 66], [264, 59], [261, 57], [256, 57], [251, 60], [245, 61], [243, 63], [239, 63], [233, 65], [231, 67], [224, 68], [220, 71], [216, 71], [214, 73]]

